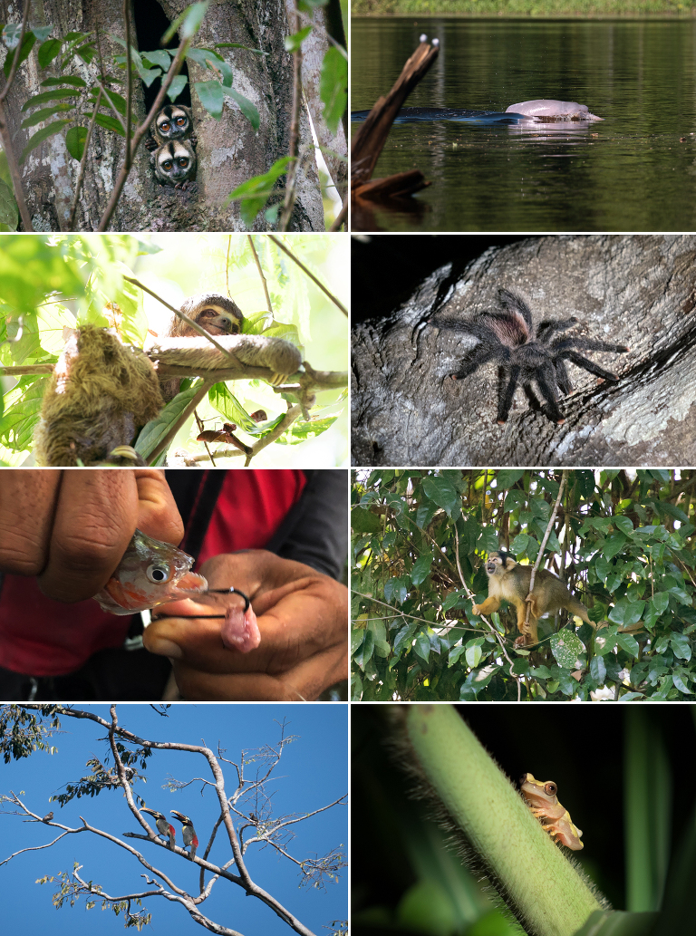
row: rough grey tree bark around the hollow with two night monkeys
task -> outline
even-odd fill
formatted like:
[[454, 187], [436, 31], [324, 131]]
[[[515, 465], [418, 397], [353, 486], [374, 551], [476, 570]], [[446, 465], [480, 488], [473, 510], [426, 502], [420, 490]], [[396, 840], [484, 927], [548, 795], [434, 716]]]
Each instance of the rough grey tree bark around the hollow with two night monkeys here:
[[[188, 4], [187, 0], [160, 0], [160, 5], [171, 21]], [[0, 3], [4, 22], [16, 21], [13, 7], [8, 0]], [[70, 30], [88, 32], [98, 27], [105, 55], [111, 56], [114, 48], [122, 51], [107, 37], [108, 33], [113, 33], [125, 38], [121, 0], [33, 0], [30, 22], [53, 23], [56, 26], [54, 36], [65, 35]], [[219, 50], [234, 70], [235, 90], [253, 101], [259, 110], [259, 131], [254, 132], [230, 97], [225, 98], [221, 119], [215, 121], [192, 92], [199, 140], [197, 183], [185, 192], [161, 187], [155, 183], [149, 154], [141, 146], [111, 220], [111, 230], [246, 229], [240, 217], [239, 202], [227, 207], [223, 207], [223, 202], [237, 185], [265, 172], [276, 159], [288, 152], [292, 59], [283, 46], [288, 33], [283, 0], [218, 0], [211, 4], [199, 33], [194, 37], [194, 46], [213, 48], [216, 42], [239, 42], [268, 52], [260, 56], [242, 49]], [[135, 30], [133, 34], [133, 44], [137, 46]], [[39, 70], [37, 52], [32, 51], [8, 95], [8, 121], [18, 152], [37, 129], [22, 130], [20, 124], [25, 116], [20, 110], [22, 104], [29, 96], [37, 94], [41, 80], [54, 74], [53, 66], [54, 63], [48, 69]], [[96, 74], [96, 65], [69, 70], [86, 79], [88, 73]], [[214, 77], [212, 72], [190, 60], [188, 73], [191, 83]], [[134, 110], [141, 120], [145, 111], [141, 81], [137, 77], [134, 79], [134, 97]], [[304, 112], [301, 139], [311, 145], [309, 122]], [[113, 181], [123, 164], [124, 147], [123, 138], [96, 127], [92, 152], [87, 157], [77, 229], [96, 228]], [[64, 229], [77, 170], [78, 163], [67, 154], [62, 135], [45, 141], [27, 157], [22, 173], [35, 230]], [[253, 229], [272, 227], [261, 214]], [[290, 229], [323, 230], [323, 227], [317, 168], [315, 162], [309, 160], [298, 184]]]

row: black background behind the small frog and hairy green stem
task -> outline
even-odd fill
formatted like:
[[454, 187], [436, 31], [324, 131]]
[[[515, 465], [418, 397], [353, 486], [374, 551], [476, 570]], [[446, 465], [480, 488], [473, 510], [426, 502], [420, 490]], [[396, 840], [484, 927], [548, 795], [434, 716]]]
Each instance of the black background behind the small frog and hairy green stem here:
[[[354, 913], [377, 905], [394, 908], [415, 883], [398, 818], [395, 824], [393, 819], [419, 806], [407, 798], [408, 782], [385, 747], [387, 708], [368, 703], [351, 707]], [[537, 780], [557, 783], [558, 799], [583, 830], [585, 848], [573, 852], [573, 858], [615, 910], [624, 910], [623, 749], [628, 707], [561, 702], [457, 708], [512, 782], [528, 771]], [[696, 730], [690, 708], [678, 703], [644, 706], [672, 768], [673, 848], [696, 800]], [[368, 932], [356, 925], [352, 931], [354, 936]]]

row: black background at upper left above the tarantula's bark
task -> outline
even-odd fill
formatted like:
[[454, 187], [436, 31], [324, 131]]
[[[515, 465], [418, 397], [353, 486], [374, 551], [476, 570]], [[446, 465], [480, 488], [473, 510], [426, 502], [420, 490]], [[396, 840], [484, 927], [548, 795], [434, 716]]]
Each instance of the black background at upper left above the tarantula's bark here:
[[[466, 265], [489, 247], [523, 241], [519, 235], [368, 234], [351, 239], [351, 320], [383, 318], [432, 272], [451, 261]], [[532, 771], [534, 772], [534, 771]]]

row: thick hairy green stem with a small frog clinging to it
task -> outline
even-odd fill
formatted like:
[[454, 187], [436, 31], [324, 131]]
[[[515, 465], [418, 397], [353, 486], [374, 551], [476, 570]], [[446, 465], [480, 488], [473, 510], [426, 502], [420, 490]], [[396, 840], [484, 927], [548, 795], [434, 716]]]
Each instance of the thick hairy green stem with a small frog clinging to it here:
[[437, 796], [528, 933], [572, 936], [605, 909], [452, 706], [408, 706], [406, 731]]

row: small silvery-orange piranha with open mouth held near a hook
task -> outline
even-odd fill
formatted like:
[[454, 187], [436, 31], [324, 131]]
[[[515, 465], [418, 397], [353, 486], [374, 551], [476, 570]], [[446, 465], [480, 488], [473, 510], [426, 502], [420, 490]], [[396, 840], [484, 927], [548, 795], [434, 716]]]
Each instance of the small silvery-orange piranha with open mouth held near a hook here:
[[208, 582], [191, 572], [195, 560], [181, 549], [136, 530], [124, 558], [95, 600], [111, 614], [134, 614], [207, 592]]

